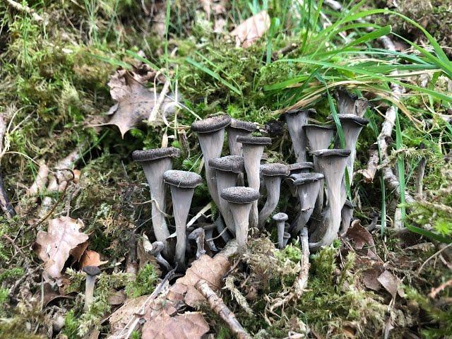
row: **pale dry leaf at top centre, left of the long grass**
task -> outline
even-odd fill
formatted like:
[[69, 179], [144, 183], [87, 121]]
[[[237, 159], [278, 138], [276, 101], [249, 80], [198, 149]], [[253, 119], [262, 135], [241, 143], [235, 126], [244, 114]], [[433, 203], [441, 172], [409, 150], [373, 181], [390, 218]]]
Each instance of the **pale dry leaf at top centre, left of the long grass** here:
[[270, 16], [267, 11], [260, 11], [240, 23], [230, 34], [235, 36], [237, 47], [246, 48], [262, 37], [268, 28], [270, 28]]

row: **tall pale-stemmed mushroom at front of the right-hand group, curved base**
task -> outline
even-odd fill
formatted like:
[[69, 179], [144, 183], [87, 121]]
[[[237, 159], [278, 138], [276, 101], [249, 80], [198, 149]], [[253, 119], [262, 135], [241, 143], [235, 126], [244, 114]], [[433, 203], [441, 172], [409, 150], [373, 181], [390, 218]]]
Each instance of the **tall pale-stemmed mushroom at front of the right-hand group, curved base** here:
[[324, 227], [317, 228], [311, 234], [311, 239], [319, 239], [319, 242], [309, 244], [310, 249], [316, 250], [321, 246], [329, 246], [338, 234], [343, 207], [340, 189], [350, 150], [316, 150], [313, 154], [328, 189], [328, 209], [323, 215]]

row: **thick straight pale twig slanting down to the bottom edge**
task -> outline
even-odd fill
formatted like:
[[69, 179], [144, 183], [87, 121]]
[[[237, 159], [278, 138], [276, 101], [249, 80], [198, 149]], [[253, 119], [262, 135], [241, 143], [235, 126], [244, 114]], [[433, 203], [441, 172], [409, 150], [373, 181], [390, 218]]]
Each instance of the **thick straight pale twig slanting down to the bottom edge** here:
[[237, 320], [236, 316], [232, 311], [226, 306], [220, 297], [210, 288], [207, 281], [204, 279], [198, 280], [195, 284], [196, 290], [198, 290], [203, 297], [205, 297], [210, 305], [210, 308], [220, 316], [222, 321], [225, 321], [226, 325], [232, 333], [238, 339], [251, 339], [251, 335], [246, 333], [245, 329]]

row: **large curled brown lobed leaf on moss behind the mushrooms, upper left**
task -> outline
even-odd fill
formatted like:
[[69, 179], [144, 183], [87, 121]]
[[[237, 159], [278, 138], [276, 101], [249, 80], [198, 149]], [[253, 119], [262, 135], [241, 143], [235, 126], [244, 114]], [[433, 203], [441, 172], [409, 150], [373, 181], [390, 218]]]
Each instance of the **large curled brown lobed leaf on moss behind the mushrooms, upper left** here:
[[[110, 95], [117, 101], [113, 105], [108, 115], [112, 115], [107, 125], [116, 125], [124, 138], [124, 134], [141, 121], [148, 119], [150, 112], [155, 106], [159, 93], [146, 88], [150, 78], [155, 76], [155, 71], [151, 71], [145, 64], [141, 64], [134, 71], [119, 69], [114, 73], [108, 85]], [[174, 100], [172, 95], [167, 95], [160, 107], [160, 114], [167, 116], [174, 112]], [[153, 123], [162, 123], [162, 115], [155, 118]]]

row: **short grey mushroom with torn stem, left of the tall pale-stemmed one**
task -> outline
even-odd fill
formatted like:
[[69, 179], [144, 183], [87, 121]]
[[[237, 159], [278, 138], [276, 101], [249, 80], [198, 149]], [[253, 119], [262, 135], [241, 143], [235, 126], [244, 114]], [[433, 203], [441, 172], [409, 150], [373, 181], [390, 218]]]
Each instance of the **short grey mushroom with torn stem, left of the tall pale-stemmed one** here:
[[299, 234], [311, 218], [316, 198], [323, 184], [323, 174], [321, 173], [300, 173], [290, 176], [294, 180], [293, 184], [297, 187], [297, 194], [300, 203], [300, 211], [292, 228], [292, 234]]

